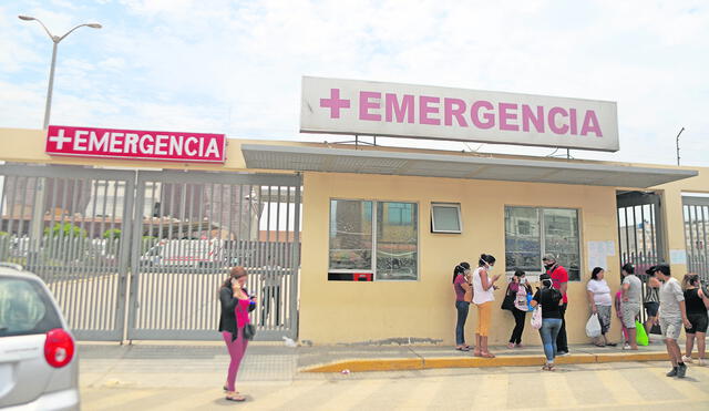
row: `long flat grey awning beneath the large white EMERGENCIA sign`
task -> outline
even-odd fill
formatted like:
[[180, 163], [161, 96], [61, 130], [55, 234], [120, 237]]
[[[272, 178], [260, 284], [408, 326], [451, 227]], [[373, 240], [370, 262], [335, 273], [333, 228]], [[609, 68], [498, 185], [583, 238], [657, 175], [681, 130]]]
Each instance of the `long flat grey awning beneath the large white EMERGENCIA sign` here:
[[494, 158], [327, 147], [244, 144], [249, 168], [500, 179], [647, 188], [693, 177], [693, 169], [577, 161]]

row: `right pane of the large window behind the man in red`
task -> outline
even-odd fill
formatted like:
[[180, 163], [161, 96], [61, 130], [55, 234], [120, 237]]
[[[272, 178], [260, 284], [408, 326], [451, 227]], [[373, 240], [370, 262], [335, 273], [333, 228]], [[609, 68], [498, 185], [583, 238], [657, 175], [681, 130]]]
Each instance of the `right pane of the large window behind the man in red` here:
[[556, 256], [568, 271], [569, 281], [580, 279], [578, 243], [578, 212], [575, 209], [544, 209], [544, 253]]

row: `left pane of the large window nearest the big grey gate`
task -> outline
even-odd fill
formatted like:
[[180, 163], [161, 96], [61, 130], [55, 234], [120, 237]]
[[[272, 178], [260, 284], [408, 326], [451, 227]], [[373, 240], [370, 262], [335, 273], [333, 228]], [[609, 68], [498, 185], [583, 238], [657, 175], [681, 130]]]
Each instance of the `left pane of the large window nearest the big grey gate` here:
[[330, 202], [330, 269], [372, 269], [372, 202]]

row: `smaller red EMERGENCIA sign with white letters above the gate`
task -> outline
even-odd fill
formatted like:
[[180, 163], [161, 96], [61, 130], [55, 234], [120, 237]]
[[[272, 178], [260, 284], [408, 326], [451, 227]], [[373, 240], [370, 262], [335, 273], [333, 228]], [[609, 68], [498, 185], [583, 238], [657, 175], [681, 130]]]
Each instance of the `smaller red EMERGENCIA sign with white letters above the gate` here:
[[50, 125], [47, 154], [101, 158], [224, 163], [224, 134]]

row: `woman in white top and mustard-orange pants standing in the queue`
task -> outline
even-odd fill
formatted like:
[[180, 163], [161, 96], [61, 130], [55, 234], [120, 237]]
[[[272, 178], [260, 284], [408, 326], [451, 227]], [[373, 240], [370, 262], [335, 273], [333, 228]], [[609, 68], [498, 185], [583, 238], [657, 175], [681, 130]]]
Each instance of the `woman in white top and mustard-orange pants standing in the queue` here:
[[495, 257], [481, 254], [477, 268], [473, 273], [473, 304], [477, 307], [477, 328], [475, 329], [475, 349], [473, 350], [475, 357], [495, 358], [487, 350], [492, 305], [495, 300], [493, 291], [496, 289], [495, 281], [500, 279], [499, 274], [491, 276], [494, 265]]

